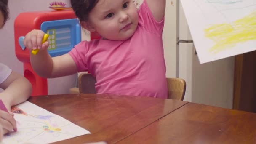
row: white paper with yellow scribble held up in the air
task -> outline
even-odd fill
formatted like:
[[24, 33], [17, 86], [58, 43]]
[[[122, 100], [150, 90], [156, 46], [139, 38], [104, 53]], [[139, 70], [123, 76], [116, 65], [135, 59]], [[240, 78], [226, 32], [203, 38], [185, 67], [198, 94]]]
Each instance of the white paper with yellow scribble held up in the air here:
[[256, 50], [256, 0], [181, 0], [200, 63]]

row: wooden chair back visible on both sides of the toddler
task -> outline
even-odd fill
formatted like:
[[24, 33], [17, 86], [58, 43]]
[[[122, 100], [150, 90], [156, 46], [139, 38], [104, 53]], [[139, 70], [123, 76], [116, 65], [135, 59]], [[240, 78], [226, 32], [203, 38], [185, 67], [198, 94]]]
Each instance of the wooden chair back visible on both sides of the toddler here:
[[[186, 91], [186, 82], [181, 78], [166, 78], [168, 86], [168, 99], [176, 99], [183, 101], [185, 91]], [[95, 77], [91, 74], [80, 74], [78, 77], [78, 88], [79, 93], [83, 94], [95, 94]]]

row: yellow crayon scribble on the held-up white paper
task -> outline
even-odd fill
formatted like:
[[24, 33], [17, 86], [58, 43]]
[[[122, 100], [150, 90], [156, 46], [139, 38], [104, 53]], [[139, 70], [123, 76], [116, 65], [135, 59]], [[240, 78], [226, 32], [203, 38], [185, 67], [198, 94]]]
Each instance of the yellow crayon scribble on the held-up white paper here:
[[210, 52], [219, 53], [237, 43], [256, 40], [256, 12], [230, 24], [215, 24], [205, 29], [205, 37], [214, 41]]

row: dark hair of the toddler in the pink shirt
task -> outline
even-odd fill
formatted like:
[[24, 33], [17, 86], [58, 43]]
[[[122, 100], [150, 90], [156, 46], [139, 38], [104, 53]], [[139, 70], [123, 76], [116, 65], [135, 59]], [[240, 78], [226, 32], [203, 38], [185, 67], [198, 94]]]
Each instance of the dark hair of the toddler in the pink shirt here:
[[88, 21], [88, 15], [99, 0], [70, 0], [75, 15], [80, 21]]

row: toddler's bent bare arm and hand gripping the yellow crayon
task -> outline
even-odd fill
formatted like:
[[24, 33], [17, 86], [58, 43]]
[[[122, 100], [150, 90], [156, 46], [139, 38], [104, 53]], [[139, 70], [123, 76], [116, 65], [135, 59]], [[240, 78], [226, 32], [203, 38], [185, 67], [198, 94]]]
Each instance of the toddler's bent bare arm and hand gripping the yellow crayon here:
[[36, 55], [30, 54], [30, 62], [35, 72], [41, 77], [46, 78], [75, 74], [77, 67], [72, 57], [69, 54], [64, 54], [51, 58], [47, 51], [49, 43], [41, 44], [43, 35], [44, 32], [41, 30], [32, 30], [24, 39], [24, 45], [30, 51], [40, 48]]

